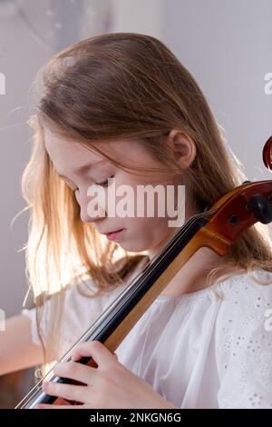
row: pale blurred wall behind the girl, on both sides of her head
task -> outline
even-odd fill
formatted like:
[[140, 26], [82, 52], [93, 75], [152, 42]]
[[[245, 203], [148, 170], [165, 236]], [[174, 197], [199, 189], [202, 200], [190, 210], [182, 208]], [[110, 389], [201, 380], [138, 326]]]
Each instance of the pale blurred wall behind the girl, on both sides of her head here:
[[248, 178], [270, 179], [261, 150], [271, 131], [271, 0], [0, 0], [0, 309], [18, 313], [26, 290], [27, 214], [20, 179], [29, 157], [28, 89], [54, 52], [105, 32], [154, 35], [173, 50], [206, 94]]

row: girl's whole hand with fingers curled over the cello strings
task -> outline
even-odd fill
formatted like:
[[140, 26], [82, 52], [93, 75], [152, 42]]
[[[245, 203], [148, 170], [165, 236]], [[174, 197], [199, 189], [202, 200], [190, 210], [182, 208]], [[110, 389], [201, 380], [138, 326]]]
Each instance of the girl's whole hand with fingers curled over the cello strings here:
[[[91, 356], [97, 367], [77, 363], [83, 356]], [[117, 355], [98, 341], [79, 344], [72, 361], [57, 363], [53, 372], [86, 385], [44, 382], [43, 389], [47, 394], [81, 404], [38, 404], [36, 409], [176, 408], [148, 382], [118, 362]]]

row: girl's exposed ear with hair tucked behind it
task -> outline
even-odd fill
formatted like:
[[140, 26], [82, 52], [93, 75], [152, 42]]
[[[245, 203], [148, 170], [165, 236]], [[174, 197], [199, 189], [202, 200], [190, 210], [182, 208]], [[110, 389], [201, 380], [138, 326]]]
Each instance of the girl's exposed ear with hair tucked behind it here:
[[186, 134], [172, 129], [168, 134], [167, 144], [176, 162], [178, 162], [182, 168], [188, 168], [197, 154], [197, 147], [193, 140]]

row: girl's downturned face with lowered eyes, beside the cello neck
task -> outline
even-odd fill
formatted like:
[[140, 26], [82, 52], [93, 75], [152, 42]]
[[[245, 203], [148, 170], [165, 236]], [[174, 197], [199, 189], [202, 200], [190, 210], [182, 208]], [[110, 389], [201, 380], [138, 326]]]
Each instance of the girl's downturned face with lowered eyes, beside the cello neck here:
[[[152, 200], [150, 199], [149, 203], [154, 203], [154, 212], [152, 213], [152, 210], [148, 211], [148, 206], [151, 206], [151, 204], [148, 205], [147, 196], [142, 198], [137, 194], [137, 191], [140, 188], [139, 185], [146, 186], [150, 184], [151, 189], [160, 184], [163, 185], [165, 190], [166, 185], [174, 185], [172, 187], [172, 189], [175, 189], [175, 200], [173, 202], [176, 204], [178, 200], [177, 186], [182, 184], [180, 183], [180, 176], [177, 175], [174, 179], [167, 179], [167, 174], [164, 174], [162, 181], [157, 172], [144, 172], [144, 170], [135, 171], [136, 174], [134, 174], [134, 171], [132, 173], [126, 172], [81, 144], [66, 141], [53, 134], [47, 127], [44, 127], [44, 144], [56, 172], [75, 192], [75, 198], [80, 205], [82, 221], [84, 223], [92, 223], [97, 231], [103, 234], [122, 230], [121, 233], [107, 236], [108, 239], [114, 240], [122, 248], [130, 252], [148, 251], [152, 258], [160, 252], [172, 234], [177, 231], [178, 227], [169, 226], [169, 221], [177, 217], [175, 218], [173, 214], [169, 216], [165, 205], [165, 214], [163, 216], [161, 214], [158, 215], [159, 205], [161, 207], [166, 202], [164, 200], [158, 202], [158, 198], [154, 197], [156, 192], [151, 192]], [[137, 140], [101, 141], [98, 146], [103, 152], [109, 154], [109, 156], [113, 154], [113, 158], [117, 159], [117, 161], [120, 159], [121, 163], [126, 164], [128, 167], [137, 168], [137, 166], [140, 166], [141, 168], [146, 168], [147, 171], [152, 167], [160, 167], [160, 169], [163, 167]], [[114, 178], [112, 184], [110, 181], [110, 185], [107, 185], [108, 178]], [[115, 211], [113, 210], [113, 214], [112, 212], [110, 213], [110, 208], [113, 206], [112, 198], [111, 200], [108, 199], [109, 192], [113, 188], [112, 185], [115, 186], [112, 194], [116, 194], [115, 192], [121, 185], [126, 185], [125, 193], [115, 197], [116, 209]], [[98, 208], [102, 208], [102, 206], [98, 206], [99, 203], [93, 202], [95, 194], [87, 194], [90, 186], [92, 191], [104, 192], [104, 211], [102, 210], [100, 213], [98, 213]], [[150, 197], [150, 194], [148, 197]], [[92, 208], [90, 208], [91, 201]], [[130, 203], [131, 207], [134, 206], [131, 216], [121, 214], [121, 212], [127, 212], [128, 204], [125, 201]], [[137, 214], [137, 209], [139, 213], [139, 209], [142, 209], [143, 206], [144, 214], [140, 216]], [[183, 208], [183, 206], [181, 207]]]

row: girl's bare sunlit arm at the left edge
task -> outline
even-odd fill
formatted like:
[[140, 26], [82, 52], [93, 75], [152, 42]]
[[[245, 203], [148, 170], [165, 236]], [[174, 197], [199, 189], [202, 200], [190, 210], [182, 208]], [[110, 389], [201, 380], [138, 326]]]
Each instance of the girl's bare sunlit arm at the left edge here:
[[32, 341], [30, 319], [23, 314], [7, 319], [0, 332], [0, 375], [42, 362], [42, 347]]

